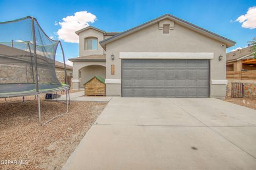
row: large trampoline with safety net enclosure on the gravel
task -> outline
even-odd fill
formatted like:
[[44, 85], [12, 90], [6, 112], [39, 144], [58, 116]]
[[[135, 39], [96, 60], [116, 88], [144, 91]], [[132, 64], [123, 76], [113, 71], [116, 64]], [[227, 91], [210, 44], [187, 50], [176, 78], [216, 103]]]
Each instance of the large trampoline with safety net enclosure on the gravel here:
[[[55, 54], [60, 46], [65, 83], [55, 73]], [[0, 98], [34, 95], [38, 101], [39, 123], [44, 125], [68, 113], [70, 104], [65, 55], [60, 41], [49, 38], [31, 16], [0, 22]], [[40, 95], [66, 91], [66, 112], [41, 121]], [[57, 95], [58, 96], [58, 95]], [[58, 97], [57, 100], [58, 101]]]

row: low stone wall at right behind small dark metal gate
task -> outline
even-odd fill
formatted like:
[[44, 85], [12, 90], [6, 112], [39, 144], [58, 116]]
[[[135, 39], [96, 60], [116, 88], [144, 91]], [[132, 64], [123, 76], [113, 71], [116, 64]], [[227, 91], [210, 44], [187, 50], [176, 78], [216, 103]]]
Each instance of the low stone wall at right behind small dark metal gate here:
[[256, 80], [228, 80], [227, 84], [227, 97], [231, 96], [231, 83], [243, 83], [244, 85], [244, 97], [255, 98], [256, 97]]

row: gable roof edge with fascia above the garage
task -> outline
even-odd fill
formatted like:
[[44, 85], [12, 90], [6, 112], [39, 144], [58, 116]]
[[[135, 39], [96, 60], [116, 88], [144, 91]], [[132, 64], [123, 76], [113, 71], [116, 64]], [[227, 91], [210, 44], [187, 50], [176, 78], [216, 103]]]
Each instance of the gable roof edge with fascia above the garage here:
[[216, 33], [208, 31], [208, 30], [206, 30], [204, 28], [198, 27], [197, 25], [195, 25], [193, 23], [190, 23], [190, 22], [187, 22], [185, 20], [182, 20], [182, 19], [180, 19], [180, 18], [178, 18], [176, 16], [173, 16], [171, 14], [165, 14], [165, 15], [159, 16], [156, 19], [153, 19], [153, 20], [148, 21], [146, 23], [140, 24], [137, 27], [134, 27], [134, 28], [131, 28], [131, 29], [126, 30], [124, 32], [118, 33], [117, 35], [115, 35], [113, 37], [104, 39], [104, 40], [100, 41], [100, 45], [104, 49], [106, 49], [106, 44], [108, 44], [108, 43], [110, 43], [112, 41], [115, 41], [115, 40], [117, 40], [119, 38], [122, 38], [122, 37], [125, 37], [127, 35], [130, 35], [133, 32], [137, 32], [137, 31], [139, 31], [139, 30], [141, 30], [143, 28], [148, 27], [149, 25], [153, 25], [153, 24], [155, 24], [155, 23], [157, 23], [159, 21], [162, 21], [164, 19], [170, 19], [170, 20], [174, 21], [175, 23], [178, 23], [178, 24], [182, 25], [183, 27], [187, 27], [187, 28], [189, 28], [191, 30], [194, 30], [194, 31], [199, 32], [199, 33], [202, 33], [205, 36], [211, 37], [211, 38], [213, 38], [215, 40], [218, 40], [218, 41], [220, 41], [222, 43], [225, 43], [227, 45], [227, 47], [231, 47], [231, 46], [234, 46], [236, 44], [236, 42], [233, 41], [233, 40], [230, 40], [228, 38], [225, 38], [225, 37], [222, 37], [220, 35], [217, 35]]

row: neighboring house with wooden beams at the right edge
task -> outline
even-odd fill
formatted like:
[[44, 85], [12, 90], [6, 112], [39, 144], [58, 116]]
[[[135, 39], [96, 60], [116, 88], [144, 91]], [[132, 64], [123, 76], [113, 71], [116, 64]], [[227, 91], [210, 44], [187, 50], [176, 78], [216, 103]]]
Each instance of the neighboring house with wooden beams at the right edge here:
[[251, 48], [227, 53], [227, 79], [256, 80], [256, 59]]

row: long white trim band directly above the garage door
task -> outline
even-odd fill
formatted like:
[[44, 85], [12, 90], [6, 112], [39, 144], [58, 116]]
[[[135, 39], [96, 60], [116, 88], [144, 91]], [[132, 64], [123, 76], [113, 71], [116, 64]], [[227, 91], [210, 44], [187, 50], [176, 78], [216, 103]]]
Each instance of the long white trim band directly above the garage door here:
[[179, 60], [212, 60], [213, 53], [141, 53], [141, 52], [120, 52], [121, 59], [179, 59]]

